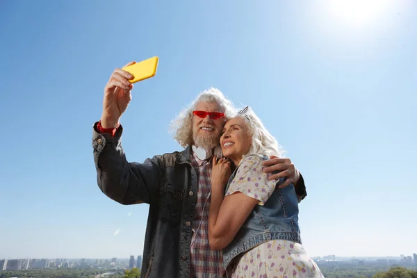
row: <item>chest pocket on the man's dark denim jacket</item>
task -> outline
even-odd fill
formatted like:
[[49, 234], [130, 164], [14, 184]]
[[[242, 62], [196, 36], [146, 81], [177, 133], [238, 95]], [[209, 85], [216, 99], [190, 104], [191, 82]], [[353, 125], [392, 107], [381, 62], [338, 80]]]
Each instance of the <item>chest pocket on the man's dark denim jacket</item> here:
[[176, 188], [170, 180], [163, 179], [159, 187], [158, 219], [171, 226], [177, 226], [181, 220], [182, 200], [183, 192]]

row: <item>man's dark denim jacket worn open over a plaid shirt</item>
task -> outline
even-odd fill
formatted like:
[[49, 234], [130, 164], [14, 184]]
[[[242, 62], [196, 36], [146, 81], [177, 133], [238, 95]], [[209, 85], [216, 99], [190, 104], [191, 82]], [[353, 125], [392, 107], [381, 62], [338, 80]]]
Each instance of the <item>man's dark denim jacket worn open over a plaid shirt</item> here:
[[[143, 163], [129, 163], [122, 131], [120, 126], [111, 136], [98, 133], [97, 122], [93, 126], [97, 184], [120, 204], [149, 204], [141, 277], [190, 277], [191, 223], [197, 203], [191, 147], [147, 158]], [[304, 197], [304, 181], [300, 181], [299, 195]]]

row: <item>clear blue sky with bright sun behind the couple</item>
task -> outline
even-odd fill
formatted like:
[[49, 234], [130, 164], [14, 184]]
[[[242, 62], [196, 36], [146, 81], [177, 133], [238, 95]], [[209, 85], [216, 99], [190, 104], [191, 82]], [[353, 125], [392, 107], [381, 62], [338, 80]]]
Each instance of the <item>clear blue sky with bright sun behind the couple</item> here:
[[152, 56], [129, 161], [181, 149], [170, 120], [213, 86], [302, 172], [311, 256], [417, 252], [417, 3], [340, 1], [1, 1], [0, 258], [142, 254], [148, 206], [101, 193], [91, 135], [111, 72]]

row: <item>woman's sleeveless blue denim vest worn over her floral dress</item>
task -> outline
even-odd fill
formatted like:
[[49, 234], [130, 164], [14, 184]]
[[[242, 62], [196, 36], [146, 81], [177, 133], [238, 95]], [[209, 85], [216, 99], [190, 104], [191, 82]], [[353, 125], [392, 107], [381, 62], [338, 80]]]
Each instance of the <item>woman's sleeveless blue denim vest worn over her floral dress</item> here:
[[[268, 159], [261, 156], [263, 160]], [[233, 181], [238, 167], [234, 170], [226, 186], [226, 191]], [[237, 257], [256, 245], [268, 240], [291, 240], [301, 244], [300, 228], [298, 227], [298, 199], [293, 184], [279, 189], [278, 185], [284, 178], [277, 181], [275, 192], [263, 206], [256, 204], [249, 217], [227, 247], [224, 247], [224, 268], [233, 268]], [[234, 263], [231, 263], [232, 260]], [[231, 263], [231, 265], [229, 265]], [[228, 269], [229, 269], [228, 268]], [[228, 271], [229, 272], [229, 271]]]

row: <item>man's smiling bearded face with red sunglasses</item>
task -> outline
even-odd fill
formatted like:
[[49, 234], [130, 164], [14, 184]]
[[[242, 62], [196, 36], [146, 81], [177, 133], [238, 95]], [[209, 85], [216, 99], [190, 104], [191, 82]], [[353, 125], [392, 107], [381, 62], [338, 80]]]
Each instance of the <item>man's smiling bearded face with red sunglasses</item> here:
[[[206, 112], [223, 112], [220, 111], [220, 106], [213, 102], [208, 103], [201, 101], [195, 106], [195, 111]], [[220, 133], [224, 125], [224, 117], [212, 119], [210, 115], [202, 118], [193, 115], [193, 139], [197, 147], [204, 147], [204, 149], [213, 149], [219, 144]]]

